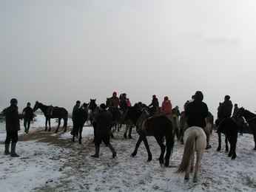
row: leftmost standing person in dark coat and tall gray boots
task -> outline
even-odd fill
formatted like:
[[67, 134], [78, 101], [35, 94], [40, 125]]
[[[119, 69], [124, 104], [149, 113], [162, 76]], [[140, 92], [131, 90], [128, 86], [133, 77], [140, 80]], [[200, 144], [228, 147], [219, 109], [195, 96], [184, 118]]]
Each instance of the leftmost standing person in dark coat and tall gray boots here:
[[[4, 154], [9, 155], [11, 157], [19, 157], [16, 154], [16, 144], [18, 142], [18, 131], [21, 130], [19, 119], [21, 116], [18, 114], [18, 100], [12, 99], [10, 100], [10, 106], [7, 108], [6, 112], [6, 140]], [[12, 141], [12, 145], [10, 148], [10, 141]], [[9, 151], [9, 148], [11, 151]]]

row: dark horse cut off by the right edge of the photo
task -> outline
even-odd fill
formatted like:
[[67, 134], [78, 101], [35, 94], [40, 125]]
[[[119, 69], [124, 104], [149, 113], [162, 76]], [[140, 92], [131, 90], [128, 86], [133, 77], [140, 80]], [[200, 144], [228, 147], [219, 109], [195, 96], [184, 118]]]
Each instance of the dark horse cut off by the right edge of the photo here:
[[255, 140], [255, 148], [254, 150], [256, 150], [256, 114], [249, 112], [248, 110], [244, 109], [243, 107], [241, 107], [240, 109], [238, 109], [238, 117], [244, 117], [246, 119], [246, 122], [249, 125], [249, 128], [252, 131], [254, 140]]

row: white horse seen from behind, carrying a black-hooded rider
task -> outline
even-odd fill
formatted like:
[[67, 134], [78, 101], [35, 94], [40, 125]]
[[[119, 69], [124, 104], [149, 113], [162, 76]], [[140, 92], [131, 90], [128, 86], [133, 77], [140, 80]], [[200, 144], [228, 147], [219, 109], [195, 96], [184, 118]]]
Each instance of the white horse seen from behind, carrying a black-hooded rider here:
[[189, 172], [194, 170], [195, 152], [197, 153], [197, 161], [195, 163], [195, 174], [193, 182], [198, 182], [198, 170], [201, 166], [201, 160], [203, 158], [203, 152], [206, 148], [206, 134], [203, 128], [192, 126], [186, 129], [184, 133], [184, 152], [181, 160], [181, 165], [178, 168], [177, 173], [185, 174], [185, 181], [189, 180]]

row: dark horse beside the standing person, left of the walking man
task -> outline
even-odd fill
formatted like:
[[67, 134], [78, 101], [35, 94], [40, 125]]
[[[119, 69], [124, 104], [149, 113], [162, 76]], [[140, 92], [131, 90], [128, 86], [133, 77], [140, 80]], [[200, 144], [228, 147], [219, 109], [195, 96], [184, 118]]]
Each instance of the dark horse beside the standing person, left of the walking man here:
[[[74, 114], [74, 120], [73, 123], [76, 125], [75, 128], [78, 128], [78, 130], [74, 130], [75, 133], [79, 133], [78, 143], [81, 144], [82, 140], [82, 131], [84, 127], [84, 123], [87, 121], [88, 118], [88, 105], [87, 103], [84, 103], [79, 109], [78, 112], [75, 112]], [[73, 134], [72, 141], [75, 142], [75, 134]]]

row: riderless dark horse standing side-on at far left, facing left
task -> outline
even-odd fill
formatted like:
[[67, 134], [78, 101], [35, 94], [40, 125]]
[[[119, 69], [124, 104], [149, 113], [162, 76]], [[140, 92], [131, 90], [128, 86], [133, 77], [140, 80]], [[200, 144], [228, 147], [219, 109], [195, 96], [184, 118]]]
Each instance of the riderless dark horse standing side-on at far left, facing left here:
[[[61, 126], [61, 119], [64, 120], [64, 132], [67, 131], [67, 118], [68, 118], [68, 113], [67, 110], [64, 109], [63, 107], [58, 107], [58, 106], [45, 106], [42, 103], [39, 103], [36, 101], [36, 104], [33, 108], [33, 111], [36, 112], [37, 109], [41, 109], [41, 111], [44, 113], [45, 116], [45, 131], [47, 131], [47, 122], [49, 122], [49, 129], [48, 131], [51, 130], [50, 127], [50, 119], [53, 118], [58, 118], [58, 128]], [[58, 132], [58, 128], [56, 129], [55, 133]], [[62, 129], [63, 129], [62, 128]]]

